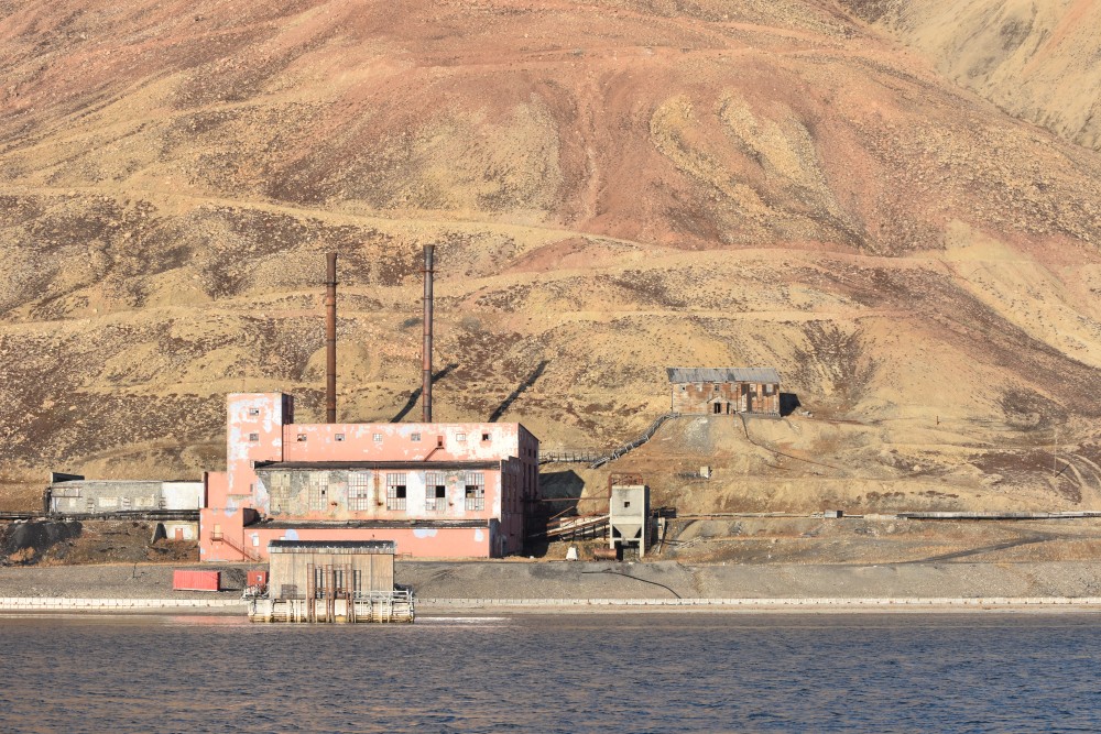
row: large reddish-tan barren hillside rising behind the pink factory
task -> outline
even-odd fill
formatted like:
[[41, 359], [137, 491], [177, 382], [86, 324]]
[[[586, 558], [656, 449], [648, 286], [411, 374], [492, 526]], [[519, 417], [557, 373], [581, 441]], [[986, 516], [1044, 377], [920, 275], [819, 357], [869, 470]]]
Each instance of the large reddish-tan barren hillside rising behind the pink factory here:
[[428, 242], [442, 419], [608, 447], [666, 365], [775, 365], [813, 415], [634, 467], [716, 464], [696, 508], [1101, 506], [1101, 155], [828, 0], [0, 0], [0, 68], [4, 506], [219, 468], [230, 391], [320, 419], [329, 250], [340, 418], [402, 416]]

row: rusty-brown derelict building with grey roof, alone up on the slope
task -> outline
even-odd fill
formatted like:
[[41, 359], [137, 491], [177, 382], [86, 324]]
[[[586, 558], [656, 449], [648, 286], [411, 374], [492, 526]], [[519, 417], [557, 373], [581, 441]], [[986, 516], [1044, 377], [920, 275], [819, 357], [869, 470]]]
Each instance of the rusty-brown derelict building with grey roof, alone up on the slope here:
[[685, 415], [780, 415], [775, 368], [668, 368], [672, 410]]

